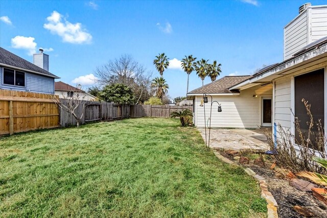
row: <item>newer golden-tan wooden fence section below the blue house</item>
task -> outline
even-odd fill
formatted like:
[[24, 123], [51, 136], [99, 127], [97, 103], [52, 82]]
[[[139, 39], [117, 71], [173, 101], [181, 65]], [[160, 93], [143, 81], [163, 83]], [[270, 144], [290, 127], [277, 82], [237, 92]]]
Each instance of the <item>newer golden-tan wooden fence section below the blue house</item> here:
[[0, 135], [59, 127], [57, 95], [0, 90]]

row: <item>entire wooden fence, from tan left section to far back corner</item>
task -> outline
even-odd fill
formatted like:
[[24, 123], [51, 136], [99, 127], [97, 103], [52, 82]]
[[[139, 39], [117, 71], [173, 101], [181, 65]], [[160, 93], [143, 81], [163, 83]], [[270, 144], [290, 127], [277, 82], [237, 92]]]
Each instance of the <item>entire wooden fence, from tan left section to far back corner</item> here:
[[[67, 104], [58, 95], [25, 91], [0, 90], [0, 135], [76, 125], [75, 117], [60, 109], [54, 101]], [[85, 105], [83, 113], [83, 105]], [[169, 117], [177, 110], [192, 110], [193, 106], [118, 105], [107, 102], [82, 101], [75, 110], [81, 124], [96, 120], [129, 117]]]

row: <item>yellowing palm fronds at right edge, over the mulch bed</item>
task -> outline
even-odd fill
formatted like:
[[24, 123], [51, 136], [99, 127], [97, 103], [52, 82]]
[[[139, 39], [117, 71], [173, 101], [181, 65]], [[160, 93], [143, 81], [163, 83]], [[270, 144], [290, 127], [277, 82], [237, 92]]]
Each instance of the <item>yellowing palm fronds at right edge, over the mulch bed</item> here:
[[[312, 160], [315, 161], [316, 163], [318, 163], [323, 168], [327, 169], [327, 159], [324, 159], [321, 157], [313, 157]], [[327, 186], [327, 176], [326, 175], [308, 172], [308, 171], [302, 171], [296, 175], [310, 179], [311, 181], [313, 181], [314, 183], [316, 183], [318, 185]]]

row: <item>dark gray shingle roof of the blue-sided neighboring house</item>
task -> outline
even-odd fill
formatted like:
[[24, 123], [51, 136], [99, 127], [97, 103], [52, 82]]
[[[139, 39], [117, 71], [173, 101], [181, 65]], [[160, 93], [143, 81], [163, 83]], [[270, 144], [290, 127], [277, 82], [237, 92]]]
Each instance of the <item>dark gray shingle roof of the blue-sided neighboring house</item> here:
[[48, 72], [45, 69], [42, 69], [41, 67], [38, 67], [35, 64], [32, 64], [31, 62], [0, 47], [0, 65], [2, 65], [2, 64], [31, 70], [31, 71], [37, 72], [39, 74], [42, 74], [44, 76], [53, 77], [56, 79], [59, 78], [56, 75], [51, 74], [51, 72]]

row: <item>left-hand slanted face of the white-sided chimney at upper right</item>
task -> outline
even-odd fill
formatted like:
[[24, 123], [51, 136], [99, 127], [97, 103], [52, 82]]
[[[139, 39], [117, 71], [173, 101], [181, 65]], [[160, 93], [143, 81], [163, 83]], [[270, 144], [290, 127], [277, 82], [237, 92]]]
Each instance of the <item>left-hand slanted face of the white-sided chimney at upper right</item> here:
[[284, 60], [308, 44], [307, 11], [284, 28]]

